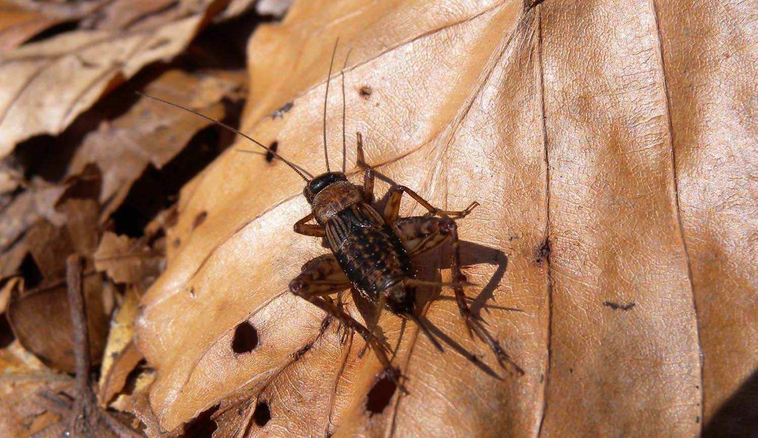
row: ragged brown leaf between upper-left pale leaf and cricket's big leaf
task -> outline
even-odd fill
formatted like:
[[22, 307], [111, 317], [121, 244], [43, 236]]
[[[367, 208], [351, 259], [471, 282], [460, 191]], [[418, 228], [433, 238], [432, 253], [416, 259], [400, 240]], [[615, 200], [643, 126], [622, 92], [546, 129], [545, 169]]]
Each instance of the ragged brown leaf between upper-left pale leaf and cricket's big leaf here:
[[[209, 72], [201, 76], [168, 70], [144, 92], [223, 119], [221, 99], [237, 92], [243, 81], [242, 74]], [[98, 130], [88, 133], [74, 153], [69, 174], [80, 173], [88, 163], [97, 163], [102, 171], [103, 220], [121, 205], [149, 164], [160, 169], [210, 124], [198, 123], [197, 117], [186, 111], [165, 110], [164, 104], [141, 98], [121, 116], [103, 121]]]

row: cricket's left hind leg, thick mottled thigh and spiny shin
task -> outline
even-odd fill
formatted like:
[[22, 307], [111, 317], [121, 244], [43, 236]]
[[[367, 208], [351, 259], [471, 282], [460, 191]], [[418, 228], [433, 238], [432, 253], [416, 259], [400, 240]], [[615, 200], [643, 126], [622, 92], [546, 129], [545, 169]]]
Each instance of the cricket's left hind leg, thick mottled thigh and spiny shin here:
[[290, 281], [290, 292], [326, 311], [334, 318], [337, 318], [340, 323], [361, 335], [366, 344], [370, 344], [371, 348], [374, 349], [374, 353], [384, 368], [384, 372], [390, 376], [393, 383], [396, 384], [402, 393], [407, 394], [408, 390], [397, 379], [399, 372], [393, 368], [384, 346], [379, 343], [376, 336], [342, 308], [335, 305], [334, 302], [324, 299], [324, 296], [341, 292], [349, 287], [349, 280], [342, 271], [340, 264], [337, 263], [337, 258], [334, 258], [334, 255], [331, 254], [321, 255], [304, 264], [302, 272], [294, 280]]

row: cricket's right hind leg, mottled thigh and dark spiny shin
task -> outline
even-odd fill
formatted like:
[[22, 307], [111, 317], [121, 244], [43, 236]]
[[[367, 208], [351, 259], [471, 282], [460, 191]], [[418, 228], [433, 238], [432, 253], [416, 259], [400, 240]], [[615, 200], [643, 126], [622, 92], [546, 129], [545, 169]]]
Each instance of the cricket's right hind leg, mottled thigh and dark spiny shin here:
[[469, 334], [471, 332], [476, 333], [479, 339], [490, 346], [500, 367], [508, 370], [507, 365], [510, 365], [518, 374], [524, 374], [524, 370], [511, 360], [497, 339], [484, 328], [481, 321], [466, 304], [466, 296], [463, 293], [466, 277], [461, 272], [460, 241], [456, 221], [450, 217], [402, 217], [393, 222], [393, 230], [406, 244], [406, 249], [412, 257], [428, 252], [449, 239], [453, 252], [450, 259], [450, 271], [452, 271], [453, 277], [451, 286], [456, 295], [456, 305], [458, 305], [461, 318], [463, 318]]

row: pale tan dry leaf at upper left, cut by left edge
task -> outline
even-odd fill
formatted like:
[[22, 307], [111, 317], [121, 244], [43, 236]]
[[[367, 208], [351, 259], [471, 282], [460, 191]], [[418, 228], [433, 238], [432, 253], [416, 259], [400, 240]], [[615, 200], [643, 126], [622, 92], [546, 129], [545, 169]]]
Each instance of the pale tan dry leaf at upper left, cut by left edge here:
[[134, 30], [77, 30], [0, 58], [0, 156], [30, 136], [61, 133], [81, 112], [146, 64], [181, 52], [218, 2], [173, 23]]

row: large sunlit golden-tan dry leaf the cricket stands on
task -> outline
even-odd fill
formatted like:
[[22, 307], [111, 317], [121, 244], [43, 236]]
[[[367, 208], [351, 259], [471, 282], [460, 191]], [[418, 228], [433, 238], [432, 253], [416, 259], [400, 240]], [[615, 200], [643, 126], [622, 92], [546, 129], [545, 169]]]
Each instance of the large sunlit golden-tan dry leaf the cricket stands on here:
[[[481, 203], [460, 221], [465, 273], [484, 285], [469, 294], [525, 376], [496, 367], [443, 289], [426, 317], [446, 351], [385, 312], [381, 333], [410, 394], [387, 405], [370, 396], [383, 384], [374, 355], [358, 357], [360, 339], [341, 345], [324, 314], [287, 290], [326, 251], [292, 232], [309, 212], [302, 180], [230, 151], [183, 189], [168, 234], [181, 246], [143, 297], [137, 345], [158, 371], [149, 400], [162, 430], [193, 418], [223, 423], [227, 436], [695, 436], [703, 424], [755, 426], [718, 411], [758, 368], [750, 5], [523, 5], [299, 2], [251, 41], [244, 127], [324, 171], [324, 72], [340, 36], [337, 69], [350, 51], [348, 171], [359, 180], [360, 131], [383, 176], [379, 198], [389, 181], [442, 208]], [[339, 75], [331, 90], [338, 84]], [[287, 102], [283, 117], [266, 117]], [[327, 111], [333, 168], [341, 122], [337, 91]], [[409, 201], [401, 209], [420, 211]], [[438, 268], [449, 278], [444, 252], [418, 267], [422, 278]], [[235, 352], [249, 326], [252, 351]]]

